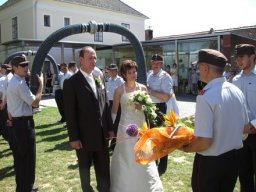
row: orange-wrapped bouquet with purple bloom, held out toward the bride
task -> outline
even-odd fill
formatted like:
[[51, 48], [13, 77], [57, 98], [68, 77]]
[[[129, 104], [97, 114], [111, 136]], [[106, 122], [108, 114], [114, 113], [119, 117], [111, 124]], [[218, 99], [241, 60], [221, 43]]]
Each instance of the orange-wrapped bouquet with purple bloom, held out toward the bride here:
[[165, 127], [148, 128], [146, 122], [139, 128], [135, 124], [128, 125], [126, 133], [130, 136], [140, 135], [134, 146], [135, 160], [140, 164], [147, 164], [164, 157], [172, 151], [188, 145], [194, 139], [194, 130], [176, 125], [174, 111], [164, 115]]

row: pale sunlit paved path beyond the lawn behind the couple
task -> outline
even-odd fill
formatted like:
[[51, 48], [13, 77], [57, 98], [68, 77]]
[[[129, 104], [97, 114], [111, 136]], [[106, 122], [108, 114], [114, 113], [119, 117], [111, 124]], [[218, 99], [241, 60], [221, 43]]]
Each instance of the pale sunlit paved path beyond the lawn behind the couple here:
[[[195, 114], [195, 97], [194, 96], [177, 96], [177, 103], [180, 110], [180, 118], [188, 117]], [[44, 95], [40, 101], [41, 107], [57, 107], [52, 95]]]

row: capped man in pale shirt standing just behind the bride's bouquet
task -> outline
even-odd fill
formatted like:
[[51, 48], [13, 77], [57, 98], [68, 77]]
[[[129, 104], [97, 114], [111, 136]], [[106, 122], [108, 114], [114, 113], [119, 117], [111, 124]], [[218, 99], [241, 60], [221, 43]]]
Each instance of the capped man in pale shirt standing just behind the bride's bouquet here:
[[[151, 58], [151, 69], [152, 73], [149, 74], [147, 79], [148, 93], [150, 98], [156, 107], [159, 109], [156, 124], [151, 122], [151, 127], [161, 126], [164, 122], [162, 114], [166, 113], [167, 105], [166, 102], [169, 101], [171, 95], [173, 94], [173, 84], [171, 76], [162, 69], [163, 67], [163, 57], [161, 55], [155, 54]], [[158, 163], [159, 175], [165, 173], [167, 169], [168, 156], [162, 157]]]

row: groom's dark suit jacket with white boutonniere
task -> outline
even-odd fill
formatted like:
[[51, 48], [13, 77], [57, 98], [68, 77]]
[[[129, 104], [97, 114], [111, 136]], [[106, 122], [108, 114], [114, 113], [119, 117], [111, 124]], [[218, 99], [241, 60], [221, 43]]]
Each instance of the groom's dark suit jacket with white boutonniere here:
[[107, 132], [113, 130], [106, 89], [101, 81], [96, 81], [98, 99], [81, 71], [65, 80], [63, 86], [69, 140], [81, 140], [88, 151], [106, 147]]

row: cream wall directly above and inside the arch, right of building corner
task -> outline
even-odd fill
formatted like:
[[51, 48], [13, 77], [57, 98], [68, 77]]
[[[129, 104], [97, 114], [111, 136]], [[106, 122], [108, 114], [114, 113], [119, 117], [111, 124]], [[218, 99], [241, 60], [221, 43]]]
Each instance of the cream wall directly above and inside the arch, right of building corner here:
[[[44, 27], [44, 15], [51, 16], [51, 27]], [[145, 40], [144, 18], [114, 13], [107, 10], [86, 7], [78, 4], [55, 2], [50, 0], [39, 1], [37, 4], [37, 39], [43, 40], [54, 31], [64, 27], [64, 17], [70, 18], [71, 24], [88, 24], [94, 20], [97, 23], [130, 24], [130, 30], [142, 41]], [[104, 33], [102, 44], [122, 43], [122, 37], [114, 33]], [[63, 41], [94, 42], [94, 35], [90, 33], [69, 36]], [[99, 42], [97, 42], [99, 43]]]

